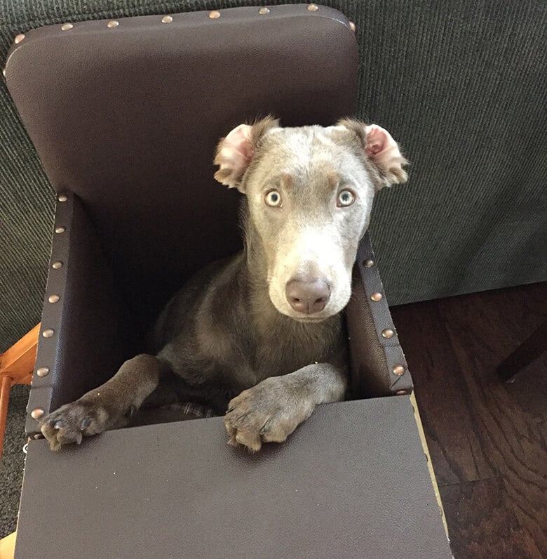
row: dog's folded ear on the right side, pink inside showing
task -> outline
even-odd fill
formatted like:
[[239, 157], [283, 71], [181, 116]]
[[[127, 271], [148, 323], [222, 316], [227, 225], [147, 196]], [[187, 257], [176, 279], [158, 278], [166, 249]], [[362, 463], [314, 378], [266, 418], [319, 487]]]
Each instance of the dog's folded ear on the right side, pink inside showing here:
[[358, 136], [365, 154], [379, 171], [379, 180], [375, 181], [376, 190], [407, 181], [403, 166], [408, 162], [387, 130], [377, 124], [367, 125], [357, 120], [341, 120], [337, 125], [344, 126]]

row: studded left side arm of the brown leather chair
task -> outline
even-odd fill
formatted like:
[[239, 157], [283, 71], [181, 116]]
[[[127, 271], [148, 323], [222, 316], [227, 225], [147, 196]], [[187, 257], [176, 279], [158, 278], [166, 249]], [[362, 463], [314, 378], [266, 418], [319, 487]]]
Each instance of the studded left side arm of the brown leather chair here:
[[80, 199], [58, 195], [26, 430], [116, 372], [131, 352], [130, 316]]

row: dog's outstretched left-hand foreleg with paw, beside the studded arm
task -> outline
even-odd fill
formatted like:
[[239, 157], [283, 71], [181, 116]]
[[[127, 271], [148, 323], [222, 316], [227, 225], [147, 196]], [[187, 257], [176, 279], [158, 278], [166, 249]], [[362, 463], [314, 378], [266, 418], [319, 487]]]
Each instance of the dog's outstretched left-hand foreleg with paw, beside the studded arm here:
[[102, 386], [49, 414], [40, 428], [51, 449], [58, 450], [69, 442], [80, 444], [84, 436], [122, 427], [156, 389], [165, 367], [153, 355], [137, 355]]

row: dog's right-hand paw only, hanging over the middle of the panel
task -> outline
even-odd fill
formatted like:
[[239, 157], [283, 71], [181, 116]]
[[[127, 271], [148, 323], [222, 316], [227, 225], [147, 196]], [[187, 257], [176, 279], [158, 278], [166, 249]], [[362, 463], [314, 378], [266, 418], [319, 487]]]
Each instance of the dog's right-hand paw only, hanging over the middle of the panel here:
[[224, 426], [229, 444], [251, 452], [262, 442], [283, 442], [313, 412], [314, 402], [305, 386], [274, 376], [243, 390], [228, 405]]

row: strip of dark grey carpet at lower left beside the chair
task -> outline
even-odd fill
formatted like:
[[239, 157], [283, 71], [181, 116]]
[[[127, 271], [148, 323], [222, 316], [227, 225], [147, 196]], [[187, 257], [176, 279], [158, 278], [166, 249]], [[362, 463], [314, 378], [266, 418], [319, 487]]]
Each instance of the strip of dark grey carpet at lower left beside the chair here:
[[17, 527], [19, 497], [25, 454], [25, 408], [29, 399], [29, 386], [11, 389], [4, 455], [0, 460], [0, 538], [11, 534]]

